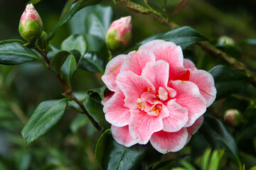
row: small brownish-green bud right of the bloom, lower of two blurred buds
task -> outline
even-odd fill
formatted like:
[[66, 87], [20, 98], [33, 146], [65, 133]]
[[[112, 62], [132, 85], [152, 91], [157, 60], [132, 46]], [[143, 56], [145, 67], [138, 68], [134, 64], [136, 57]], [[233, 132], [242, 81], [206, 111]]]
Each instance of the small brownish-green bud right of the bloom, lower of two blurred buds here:
[[242, 122], [242, 115], [237, 109], [225, 111], [224, 120], [230, 125], [237, 126]]

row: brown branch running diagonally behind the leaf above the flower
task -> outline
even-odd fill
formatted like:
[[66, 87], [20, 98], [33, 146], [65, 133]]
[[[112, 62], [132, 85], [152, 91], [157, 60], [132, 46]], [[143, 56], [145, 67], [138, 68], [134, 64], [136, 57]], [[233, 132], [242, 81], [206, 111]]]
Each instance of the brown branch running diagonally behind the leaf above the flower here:
[[[151, 11], [148, 8], [145, 8], [144, 6], [140, 6], [139, 4], [136, 4], [129, 0], [117, 0], [119, 3], [123, 4], [124, 6], [127, 6], [132, 11], [135, 11], [137, 13], [147, 14], [151, 16], [152, 18], [156, 19], [160, 23], [163, 23], [164, 25], [168, 26], [171, 29], [178, 28], [179, 26], [176, 23], [169, 22], [164, 16], [161, 16], [160, 13], [156, 13], [155, 11]], [[253, 86], [256, 87], [256, 78], [253, 76], [252, 72], [250, 72], [249, 69], [243, 64], [242, 62], [236, 60], [233, 57], [230, 57], [225, 52], [218, 50], [218, 48], [214, 47], [213, 45], [210, 45], [209, 42], [197, 42], [197, 45], [199, 45], [204, 52], [206, 52], [210, 56], [219, 57], [220, 59], [224, 60], [230, 66], [234, 67], [235, 69], [240, 70], [241, 72], [245, 73], [247, 77], [249, 77], [250, 82]]]

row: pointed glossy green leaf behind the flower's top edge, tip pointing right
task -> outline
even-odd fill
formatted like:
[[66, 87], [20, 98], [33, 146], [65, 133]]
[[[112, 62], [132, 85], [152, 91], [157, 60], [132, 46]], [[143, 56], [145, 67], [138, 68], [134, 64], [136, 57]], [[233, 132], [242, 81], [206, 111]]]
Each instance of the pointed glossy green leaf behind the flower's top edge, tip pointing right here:
[[144, 43], [151, 40], [171, 41], [174, 42], [176, 45], [180, 45], [182, 49], [185, 49], [186, 47], [192, 45], [195, 42], [205, 41], [208, 40], [208, 38], [204, 37], [191, 27], [183, 26], [181, 28], [176, 28], [165, 33], [152, 35], [151, 37], [146, 38], [142, 42], [138, 42], [135, 47], [132, 48], [132, 50], [138, 49], [140, 45], [143, 45]]

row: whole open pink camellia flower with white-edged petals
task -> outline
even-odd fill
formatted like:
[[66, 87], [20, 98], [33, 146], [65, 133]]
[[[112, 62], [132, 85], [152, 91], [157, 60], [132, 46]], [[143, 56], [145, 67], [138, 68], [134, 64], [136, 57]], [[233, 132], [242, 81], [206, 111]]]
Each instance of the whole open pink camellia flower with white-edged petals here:
[[112, 91], [103, 102], [114, 140], [177, 152], [203, 123], [215, 100], [210, 73], [183, 59], [173, 42], [152, 40], [107, 64], [102, 80]]

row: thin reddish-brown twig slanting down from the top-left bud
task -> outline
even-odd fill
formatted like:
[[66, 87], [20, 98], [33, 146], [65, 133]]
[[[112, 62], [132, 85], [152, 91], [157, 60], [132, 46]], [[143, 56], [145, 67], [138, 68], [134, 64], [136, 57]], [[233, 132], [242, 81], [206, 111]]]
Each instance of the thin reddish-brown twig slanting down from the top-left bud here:
[[[43, 52], [43, 51], [39, 50], [38, 47], [35, 47], [34, 49], [43, 56], [43, 58], [47, 62], [48, 69], [50, 69], [50, 61], [48, 60], [46, 52]], [[52, 69], [50, 69], [50, 71], [53, 72]], [[60, 81], [60, 83], [63, 85], [63, 87], [65, 89], [64, 94], [70, 96], [70, 98], [72, 98], [72, 100], [75, 101], [75, 103], [78, 104], [78, 106], [82, 109], [82, 112], [85, 113], [85, 115], [87, 115], [87, 117], [90, 119], [90, 121], [92, 122], [92, 125], [94, 125], [95, 128], [100, 131], [101, 130], [100, 125], [86, 111], [85, 106], [82, 105], [82, 102], [79, 101], [78, 98], [75, 97], [75, 95], [73, 94], [73, 91], [68, 87], [68, 85], [65, 83], [65, 81], [61, 78], [60, 74], [56, 74], [56, 76], [58, 77], [58, 80]]]

